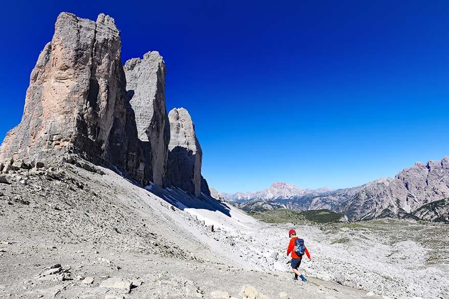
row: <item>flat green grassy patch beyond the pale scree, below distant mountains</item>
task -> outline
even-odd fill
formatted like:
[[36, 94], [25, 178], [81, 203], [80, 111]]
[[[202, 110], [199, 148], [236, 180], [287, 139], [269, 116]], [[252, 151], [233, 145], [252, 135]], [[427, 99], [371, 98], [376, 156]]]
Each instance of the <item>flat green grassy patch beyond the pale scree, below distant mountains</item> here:
[[296, 211], [287, 209], [248, 212], [248, 214], [267, 223], [303, 223], [306, 221], [332, 223], [339, 222], [343, 216], [329, 210]]

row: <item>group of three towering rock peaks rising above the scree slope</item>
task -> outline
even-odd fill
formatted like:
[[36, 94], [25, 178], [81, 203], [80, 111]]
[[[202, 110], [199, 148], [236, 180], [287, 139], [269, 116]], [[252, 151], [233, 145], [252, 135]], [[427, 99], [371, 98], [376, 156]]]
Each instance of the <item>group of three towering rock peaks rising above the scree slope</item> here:
[[[77, 155], [143, 186], [173, 186], [198, 196], [202, 185], [209, 194], [189, 113], [182, 109], [183, 126], [170, 123], [162, 56], [148, 52], [123, 67], [120, 52], [113, 18], [100, 14], [94, 22], [59, 14], [31, 73], [23, 118], [0, 146], [2, 168]], [[185, 141], [192, 136], [197, 151]], [[169, 154], [173, 142], [185, 153]]]

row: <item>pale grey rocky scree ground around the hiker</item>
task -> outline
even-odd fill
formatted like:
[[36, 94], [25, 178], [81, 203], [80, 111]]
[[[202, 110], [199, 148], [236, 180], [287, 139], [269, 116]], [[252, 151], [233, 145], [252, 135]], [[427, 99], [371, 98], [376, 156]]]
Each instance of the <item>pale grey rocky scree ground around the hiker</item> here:
[[[445, 226], [265, 224], [75, 158], [1, 177], [0, 296], [448, 298]], [[292, 226], [312, 255], [305, 284], [285, 256]]]

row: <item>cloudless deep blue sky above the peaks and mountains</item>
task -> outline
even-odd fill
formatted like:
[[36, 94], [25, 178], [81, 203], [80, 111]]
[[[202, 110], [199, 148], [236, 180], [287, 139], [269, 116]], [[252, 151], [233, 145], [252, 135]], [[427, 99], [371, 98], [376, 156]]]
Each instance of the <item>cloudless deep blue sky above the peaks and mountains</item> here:
[[8, 2], [0, 139], [59, 12], [113, 16], [122, 59], [158, 50], [218, 190], [344, 188], [449, 155], [447, 1]]

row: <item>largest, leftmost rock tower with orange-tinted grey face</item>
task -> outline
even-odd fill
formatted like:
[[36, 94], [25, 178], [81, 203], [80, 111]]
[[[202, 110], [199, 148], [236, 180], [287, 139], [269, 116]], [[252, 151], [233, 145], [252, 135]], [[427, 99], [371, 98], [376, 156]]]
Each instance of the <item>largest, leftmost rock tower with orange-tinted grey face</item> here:
[[67, 152], [114, 165], [138, 180], [144, 162], [126, 100], [114, 19], [61, 13], [31, 73], [24, 116], [8, 132], [0, 159], [44, 159]]

